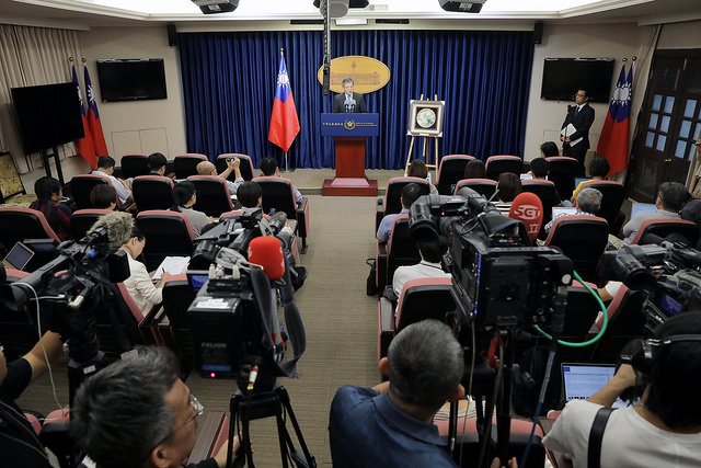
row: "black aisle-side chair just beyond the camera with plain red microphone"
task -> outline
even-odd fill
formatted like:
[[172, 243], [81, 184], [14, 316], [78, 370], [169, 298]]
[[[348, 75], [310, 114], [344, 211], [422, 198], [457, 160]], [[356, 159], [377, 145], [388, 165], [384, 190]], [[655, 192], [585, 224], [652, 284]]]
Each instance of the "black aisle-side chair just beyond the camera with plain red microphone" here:
[[[295, 202], [292, 183], [284, 178], [262, 176], [253, 179], [261, 185], [263, 191], [263, 213], [285, 212], [287, 219], [292, 227], [292, 221], [297, 221], [296, 232], [302, 240], [300, 253], [307, 253], [307, 236], [309, 236], [309, 199], [303, 196], [298, 205]], [[295, 230], [295, 228], [292, 228]]]

